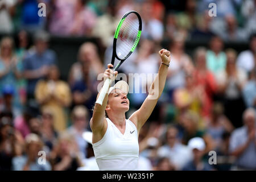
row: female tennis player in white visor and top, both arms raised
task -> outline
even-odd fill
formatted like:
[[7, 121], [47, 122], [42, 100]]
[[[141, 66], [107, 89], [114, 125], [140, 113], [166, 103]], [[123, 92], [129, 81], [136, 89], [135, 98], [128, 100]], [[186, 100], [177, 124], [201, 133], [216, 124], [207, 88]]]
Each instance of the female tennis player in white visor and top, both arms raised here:
[[[160, 64], [158, 75], [152, 82], [148, 96], [141, 108], [135, 111], [129, 119], [125, 118], [130, 103], [126, 97], [129, 86], [125, 81], [118, 81], [113, 87], [110, 87], [102, 105], [94, 106], [90, 127], [93, 133], [94, 155], [100, 170], [137, 169], [139, 130], [150, 117], [163, 92], [171, 61], [170, 51], [161, 49], [159, 55], [162, 64]], [[113, 68], [112, 64], [108, 65], [104, 77], [114, 80], [117, 71], [113, 72], [110, 68]], [[158, 82], [158, 86], [155, 86], [156, 82]], [[155, 96], [156, 94], [158, 97]]]

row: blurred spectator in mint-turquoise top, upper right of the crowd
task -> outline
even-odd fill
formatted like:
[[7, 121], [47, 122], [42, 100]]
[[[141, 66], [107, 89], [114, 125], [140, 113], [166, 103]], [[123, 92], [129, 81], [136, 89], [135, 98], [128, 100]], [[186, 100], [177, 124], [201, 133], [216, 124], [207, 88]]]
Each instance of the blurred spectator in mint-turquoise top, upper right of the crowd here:
[[222, 51], [223, 42], [219, 36], [210, 39], [210, 49], [207, 51], [207, 68], [217, 76], [217, 72], [224, 71], [226, 68], [226, 54]]

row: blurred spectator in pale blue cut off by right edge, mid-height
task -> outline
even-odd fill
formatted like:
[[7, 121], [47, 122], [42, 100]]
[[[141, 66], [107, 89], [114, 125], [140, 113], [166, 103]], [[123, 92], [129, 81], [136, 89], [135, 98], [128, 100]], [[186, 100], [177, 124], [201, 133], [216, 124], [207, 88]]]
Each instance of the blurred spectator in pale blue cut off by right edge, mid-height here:
[[250, 79], [243, 87], [242, 94], [246, 107], [256, 109], [256, 67], [250, 72]]

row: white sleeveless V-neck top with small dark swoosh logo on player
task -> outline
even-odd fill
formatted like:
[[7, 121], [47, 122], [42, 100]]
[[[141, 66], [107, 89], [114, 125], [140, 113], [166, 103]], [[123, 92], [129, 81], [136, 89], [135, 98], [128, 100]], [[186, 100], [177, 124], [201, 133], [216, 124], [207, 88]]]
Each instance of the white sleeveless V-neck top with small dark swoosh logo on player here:
[[93, 143], [93, 151], [100, 170], [135, 170], [139, 159], [137, 128], [126, 119], [125, 133], [106, 118], [108, 128], [104, 137]]

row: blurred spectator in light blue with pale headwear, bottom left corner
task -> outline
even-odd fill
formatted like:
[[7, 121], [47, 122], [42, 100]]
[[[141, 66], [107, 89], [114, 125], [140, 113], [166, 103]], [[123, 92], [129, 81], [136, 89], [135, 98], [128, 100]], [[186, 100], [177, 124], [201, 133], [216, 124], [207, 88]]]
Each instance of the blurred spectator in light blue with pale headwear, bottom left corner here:
[[14, 171], [50, 171], [51, 165], [46, 160], [45, 164], [38, 162], [38, 152], [42, 150], [43, 142], [36, 134], [28, 134], [26, 137], [25, 155], [13, 158]]

